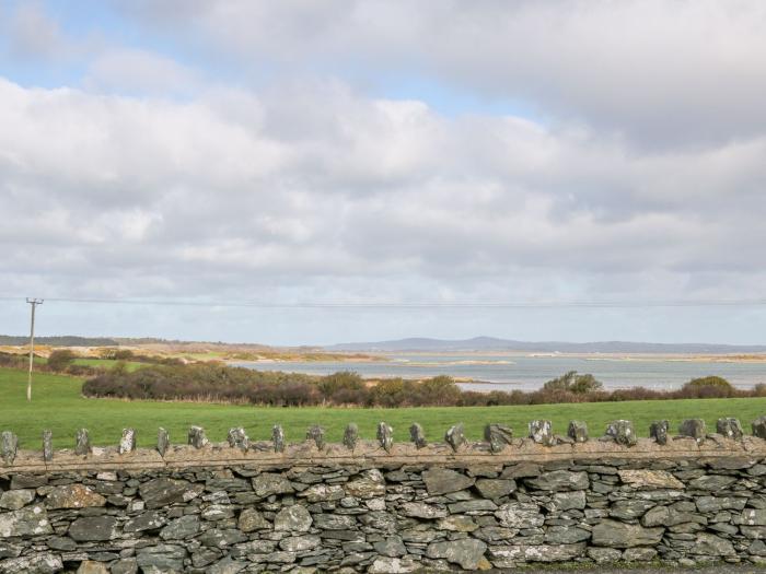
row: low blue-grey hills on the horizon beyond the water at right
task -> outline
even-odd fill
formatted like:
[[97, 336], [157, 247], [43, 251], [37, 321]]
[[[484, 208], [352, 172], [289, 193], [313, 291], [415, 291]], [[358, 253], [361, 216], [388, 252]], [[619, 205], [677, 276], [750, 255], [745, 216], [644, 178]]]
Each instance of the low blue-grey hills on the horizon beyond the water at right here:
[[494, 337], [445, 340], [409, 338], [394, 341], [355, 342], [333, 344], [326, 351], [355, 352], [460, 352], [460, 351], [523, 351], [539, 353], [655, 353], [655, 354], [730, 354], [766, 353], [766, 345], [739, 345], [716, 343], [642, 343], [628, 341], [601, 341], [571, 343], [562, 341], [513, 341]]

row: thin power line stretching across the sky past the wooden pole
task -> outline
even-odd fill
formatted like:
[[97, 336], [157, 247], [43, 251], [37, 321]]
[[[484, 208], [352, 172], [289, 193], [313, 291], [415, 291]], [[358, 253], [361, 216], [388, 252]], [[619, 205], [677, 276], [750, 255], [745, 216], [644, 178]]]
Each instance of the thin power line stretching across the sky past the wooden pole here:
[[[22, 301], [23, 297], [0, 296], [0, 301]], [[252, 307], [275, 309], [307, 308], [652, 308], [652, 307], [748, 307], [766, 306], [766, 298], [754, 300], [700, 300], [700, 301], [542, 301], [542, 302], [269, 302], [269, 301], [188, 301], [188, 300], [135, 300], [135, 298], [77, 298], [47, 297], [48, 302], [177, 306], [177, 307]]]

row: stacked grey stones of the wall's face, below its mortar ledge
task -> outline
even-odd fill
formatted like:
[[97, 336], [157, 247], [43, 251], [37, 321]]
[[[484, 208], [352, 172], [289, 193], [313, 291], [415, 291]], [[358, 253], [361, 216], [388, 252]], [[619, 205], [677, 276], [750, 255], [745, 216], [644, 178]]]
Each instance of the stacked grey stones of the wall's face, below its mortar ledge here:
[[0, 495], [0, 571], [79, 561], [127, 573], [766, 560], [766, 464], [647, 466], [605, 457], [385, 472], [11, 475]]

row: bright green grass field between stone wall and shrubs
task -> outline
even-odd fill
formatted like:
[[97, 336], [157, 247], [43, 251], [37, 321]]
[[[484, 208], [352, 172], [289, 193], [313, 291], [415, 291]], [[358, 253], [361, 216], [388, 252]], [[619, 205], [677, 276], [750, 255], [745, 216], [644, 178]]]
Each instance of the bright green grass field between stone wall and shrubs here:
[[337, 408], [267, 408], [251, 406], [206, 405], [194, 402], [123, 401], [89, 399], [80, 394], [82, 379], [35, 374], [33, 401], [26, 401], [26, 373], [0, 368], [0, 431], [15, 432], [22, 448], [37, 448], [43, 429], [54, 433], [58, 448], [73, 445], [74, 432], [86, 427], [94, 444], [117, 444], [121, 430], [138, 431], [141, 446], [153, 446], [156, 429], [164, 426], [175, 443], [183, 443], [192, 424], [205, 426], [212, 441], [223, 441], [232, 426], [244, 426], [253, 440], [267, 440], [271, 425], [283, 426], [288, 440], [299, 441], [306, 426], [318, 423], [327, 430], [329, 441], [340, 441], [349, 422], [359, 424], [365, 438], [375, 435], [375, 425], [386, 421], [394, 427], [397, 441], [409, 438], [408, 427], [417, 421], [430, 440], [441, 440], [444, 431], [456, 422], [465, 424], [469, 438], [480, 438], [484, 425], [501, 422], [524, 434], [532, 419], [550, 419], [554, 429], [564, 433], [572, 419], [588, 423], [593, 436], [601, 435], [608, 421], [630, 419], [646, 436], [649, 423], [668, 419], [675, 429], [683, 419], [703, 418], [715, 429], [720, 417], [738, 417], [748, 429], [750, 422], [766, 414], [766, 398], [694, 399], [673, 401], [631, 401], [580, 405], [542, 405], [523, 407], [428, 407], [411, 409], [337, 409]]

